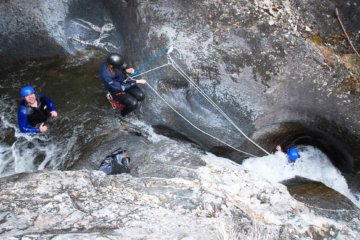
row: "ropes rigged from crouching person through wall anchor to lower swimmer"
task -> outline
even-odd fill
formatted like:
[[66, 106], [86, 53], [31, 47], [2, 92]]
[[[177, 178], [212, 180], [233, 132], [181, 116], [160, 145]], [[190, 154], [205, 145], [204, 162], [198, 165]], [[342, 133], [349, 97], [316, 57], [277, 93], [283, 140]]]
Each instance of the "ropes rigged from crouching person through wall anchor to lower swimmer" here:
[[[187, 80], [226, 120], [229, 121], [229, 123], [231, 125], [233, 125], [235, 127], [236, 130], [238, 130], [248, 141], [250, 141], [252, 144], [254, 144], [256, 147], [258, 147], [260, 150], [262, 150], [263, 152], [265, 152], [266, 154], [270, 155], [269, 152], [267, 152], [264, 148], [262, 148], [260, 145], [258, 145], [256, 142], [254, 142], [252, 139], [250, 139], [235, 123], [234, 121], [231, 120], [231, 118], [185, 73], [185, 71], [175, 62], [175, 60], [171, 57], [171, 53], [176, 50], [177, 52], [179, 52], [177, 49], [175, 49], [174, 47], [169, 47], [169, 48], [163, 48], [161, 51], [157, 52], [154, 56], [150, 57], [150, 59], [148, 61], [146, 61], [141, 67], [139, 67], [133, 74], [131, 74], [130, 78], [132, 80], [135, 80], [137, 77], [144, 75], [146, 73], [164, 68], [166, 66], [171, 66], [173, 67], [185, 80]], [[145, 71], [143, 73], [140, 73], [141, 70], [145, 69], [146, 66], [148, 66], [149, 64], [155, 62], [156, 60], [158, 60], [161, 56], [166, 55], [167, 58], [167, 63], [163, 64], [161, 66], [152, 68], [148, 71]], [[147, 85], [149, 86], [149, 88], [163, 101], [165, 102], [166, 105], [168, 105], [176, 114], [178, 114], [181, 118], [183, 118], [186, 122], [188, 122], [192, 127], [194, 127], [195, 129], [197, 129], [198, 131], [202, 132], [203, 134], [221, 142], [222, 144], [238, 151], [244, 154], [247, 154], [251, 157], [256, 157], [253, 154], [244, 152], [242, 150], [239, 150], [233, 146], [231, 146], [228, 143], [225, 143], [224, 141], [222, 141], [221, 139], [205, 132], [204, 130], [198, 128], [197, 126], [195, 126], [191, 121], [189, 121], [185, 116], [183, 116], [180, 112], [178, 112], [174, 107], [172, 107], [160, 94], [158, 91], [156, 91], [156, 89], [154, 87], [152, 87], [148, 82]]]

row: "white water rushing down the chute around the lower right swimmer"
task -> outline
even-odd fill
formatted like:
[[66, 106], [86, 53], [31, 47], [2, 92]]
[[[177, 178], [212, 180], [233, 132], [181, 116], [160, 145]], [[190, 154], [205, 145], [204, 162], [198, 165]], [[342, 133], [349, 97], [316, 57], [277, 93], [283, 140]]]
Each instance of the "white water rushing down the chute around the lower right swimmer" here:
[[246, 159], [242, 165], [245, 169], [271, 182], [281, 182], [295, 176], [322, 182], [360, 207], [359, 197], [350, 191], [341, 172], [332, 165], [323, 152], [317, 148], [305, 146], [302, 147], [300, 155], [295, 164], [288, 163], [285, 153], [276, 152], [265, 157]]

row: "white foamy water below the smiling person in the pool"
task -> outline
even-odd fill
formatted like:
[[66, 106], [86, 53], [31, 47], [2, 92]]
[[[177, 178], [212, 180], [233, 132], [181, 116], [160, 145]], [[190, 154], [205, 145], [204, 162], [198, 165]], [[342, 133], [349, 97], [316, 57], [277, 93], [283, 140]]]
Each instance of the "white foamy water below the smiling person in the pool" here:
[[0, 113], [0, 130], [3, 133], [0, 139], [0, 177], [43, 170], [45, 167], [58, 168], [75, 140], [71, 138], [64, 146], [47, 135], [21, 133], [14, 123], [15, 109], [5, 101], [0, 103], [8, 108]]

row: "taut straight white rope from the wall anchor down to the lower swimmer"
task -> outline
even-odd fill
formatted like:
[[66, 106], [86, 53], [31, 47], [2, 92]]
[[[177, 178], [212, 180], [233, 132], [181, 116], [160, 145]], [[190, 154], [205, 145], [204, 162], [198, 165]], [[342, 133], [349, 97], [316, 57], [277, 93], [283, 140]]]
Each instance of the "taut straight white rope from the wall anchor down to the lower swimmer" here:
[[264, 148], [262, 148], [260, 145], [255, 143], [252, 139], [250, 139], [232, 120], [231, 118], [180, 68], [179, 65], [176, 64], [176, 62], [171, 58], [171, 56], [167, 55], [169, 62], [173, 66], [173, 68], [181, 75], [183, 76], [191, 85], [195, 87], [196, 90], [200, 92], [200, 94], [208, 100], [208, 102], [220, 112], [221, 115], [225, 119], [227, 119], [247, 140], [249, 140], [252, 144], [254, 144], [256, 147], [264, 151], [266, 154], [270, 155], [269, 152], [267, 152]]

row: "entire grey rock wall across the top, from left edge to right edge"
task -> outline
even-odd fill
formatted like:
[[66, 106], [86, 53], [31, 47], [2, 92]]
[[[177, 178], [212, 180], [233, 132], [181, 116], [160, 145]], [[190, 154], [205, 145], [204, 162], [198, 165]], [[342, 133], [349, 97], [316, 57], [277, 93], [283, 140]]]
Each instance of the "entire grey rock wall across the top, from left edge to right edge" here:
[[[325, 52], [311, 38], [342, 34], [335, 7], [357, 39], [356, 1], [4, 1], [0, 39], [7, 58], [2, 59], [11, 62], [100, 47], [125, 52], [138, 66], [156, 49], [174, 45], [189, 75], [246, 134], [265, 139], [261, 144], [267, 149], [275, 141], [286, 141], [267, 137], [274, 124], [295, 122], [331, 133], [350, 155], [360, 156], [358, 92], [339, 90], [348, 71], [335, 52]], [[246, 145], [244, 137], [175, 71], [146, 77], [201, 129], [262, 154]], [[146, 90], [143, 109], [148, 122], [207, 149], [221, 145], [194, 131]], [[359, 159], [348, 163], [348, 170], [360, 169]]]

